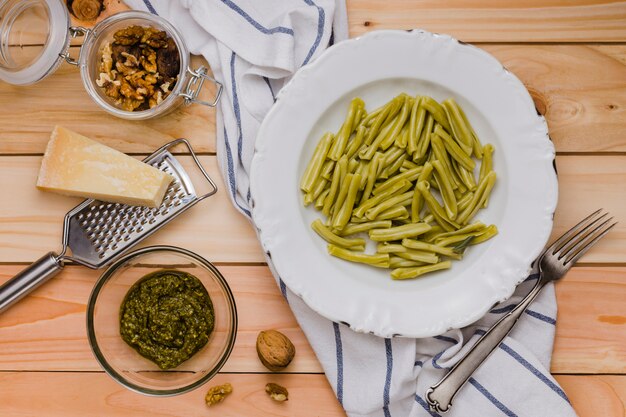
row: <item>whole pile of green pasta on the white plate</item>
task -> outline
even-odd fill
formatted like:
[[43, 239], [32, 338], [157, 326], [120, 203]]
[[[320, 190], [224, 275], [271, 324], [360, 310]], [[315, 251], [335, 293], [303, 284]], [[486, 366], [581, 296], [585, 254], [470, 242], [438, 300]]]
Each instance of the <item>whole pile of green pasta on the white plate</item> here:
[[498, 233], [470, 223], [495, 186], [493, 154], [452, 98], [403, 93], [369, 113], [354, 98], [300, 180], [304, 204], [324, 216], [311, 228], [330, 255], [392, 269], [394, 280], [448, 269]]

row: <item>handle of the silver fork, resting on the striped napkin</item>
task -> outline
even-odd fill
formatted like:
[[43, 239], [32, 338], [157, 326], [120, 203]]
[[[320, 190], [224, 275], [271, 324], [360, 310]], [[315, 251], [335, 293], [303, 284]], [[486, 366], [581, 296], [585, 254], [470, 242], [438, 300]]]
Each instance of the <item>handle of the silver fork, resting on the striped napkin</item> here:
[[533, 302], [545, 284], [546, 282], [542, 278], [539, 278], [526, 297], [524, 297], [513, 310], [487, 330], [441, 381], [428, 389], [426, 392], [426, 401], [431, 411], [444, 413], [450, 409], [452, 399], [456, 393], [480, 365], [482, 365], [491, 352], [500, 345], [500, 342], [504, 340], [506, 335], [509, 334], [524, 310], [526, 310], [526, 307]]

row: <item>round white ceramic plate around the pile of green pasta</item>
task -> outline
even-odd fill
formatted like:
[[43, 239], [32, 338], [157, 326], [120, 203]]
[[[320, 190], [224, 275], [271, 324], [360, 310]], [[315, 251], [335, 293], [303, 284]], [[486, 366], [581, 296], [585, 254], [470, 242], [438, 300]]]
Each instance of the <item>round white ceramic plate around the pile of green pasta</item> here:
[[[369, 110], [395, 95], [448, 97], [462, 106], [498, 175], [477, 218], [499, 234], [450, 270], [392, 281], [388, 270], [326, 253], [310, 228], [299, 179], [322, 134], [340, 127], [350, 100]], [[539, 255], [557, 202], [554, 147], [524, 85], [487, 52], [446, 35], [378, 31], [333, 46], [302, 68], [265, 118], [252, 163], [253, 219], [286, 285], [315, 311], [359, 332], [426, 337], [466, 326], [508, 298]]]

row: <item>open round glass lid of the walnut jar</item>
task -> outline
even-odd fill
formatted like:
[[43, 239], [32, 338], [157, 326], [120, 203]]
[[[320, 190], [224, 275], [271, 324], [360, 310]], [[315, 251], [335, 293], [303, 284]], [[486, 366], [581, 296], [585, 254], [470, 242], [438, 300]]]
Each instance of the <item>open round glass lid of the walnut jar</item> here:
[[33, 84], [54, 72], [70, 43], [62, 0], [0, 0], [0, 79]]

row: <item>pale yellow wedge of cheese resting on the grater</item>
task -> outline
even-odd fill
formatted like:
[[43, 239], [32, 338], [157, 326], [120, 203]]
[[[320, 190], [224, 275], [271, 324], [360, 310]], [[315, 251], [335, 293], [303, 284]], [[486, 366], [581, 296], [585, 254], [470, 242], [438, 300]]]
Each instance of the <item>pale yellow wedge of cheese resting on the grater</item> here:
[[37, 188], [110, 203], [158, 207], [172, 176], [57, 126], [39, 170]]

